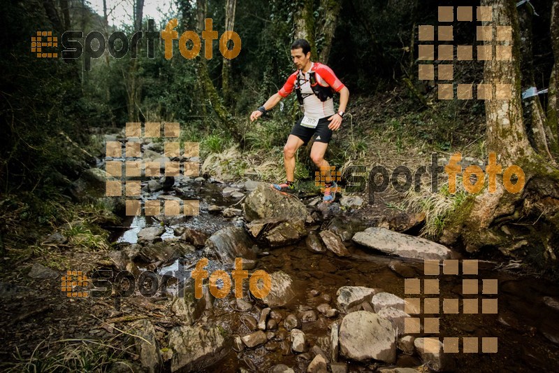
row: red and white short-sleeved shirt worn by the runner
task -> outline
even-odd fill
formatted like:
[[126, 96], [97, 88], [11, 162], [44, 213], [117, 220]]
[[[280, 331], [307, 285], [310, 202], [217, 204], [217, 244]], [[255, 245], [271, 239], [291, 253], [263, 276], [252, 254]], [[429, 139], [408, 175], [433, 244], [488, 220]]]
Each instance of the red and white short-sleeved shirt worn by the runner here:
[[[315, 71], [314, 76], [317, 78], [317, 83], [323, 87], [332, 87], [335, 92], [345, 87], [345, 85], [335, 76], [334, 71], [325, 64], [319, 62], [311, 62], [310, 70]], [[334, 115], [334, 100], [327, 99], [320, 101], [316, 94], [312, 92], [310, 87], [309, 72], [295, 71], [292, 73], [281, 90], [277, 93], [282, 97], [287, 97], [295, 88], [295, 81], [298, 74], [300, 74], [301, 94], [303, 94], [303, 108], [305, 108], [305, 115], [310, 118], [325, 118]]]

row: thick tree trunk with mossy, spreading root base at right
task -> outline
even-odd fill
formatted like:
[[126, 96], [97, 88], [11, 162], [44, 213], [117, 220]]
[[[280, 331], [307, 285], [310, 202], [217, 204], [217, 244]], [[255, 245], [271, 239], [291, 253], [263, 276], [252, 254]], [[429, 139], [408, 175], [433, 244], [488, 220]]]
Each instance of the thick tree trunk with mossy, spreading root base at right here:
[[[484, 83], [510, 84], [510, 99], [489, 99], [486, 104], [487, 150], [498, 156], [502, 171], [516, 164], [525, 174], [523, 190], [511, 193], [498, 175], [495, 192], [485, 188], [470, 195], [445, 228], [445, 244], [460, 243], [468, 252], [493, 247], [502, 253], [529, 258], [539, 265], [556, 265], [559, 250], [559, 170], [530, 145], [521, 104], [520, 31], [514, 1], [482, 0], [493, 7], [493, 21], [512, 26], [512, 59], [487, 61]], [[493, 30], [495, 32], [495, 29]], [[495, 41], [487, 41], [496, 52]], [[502, 42], [499, 42], [502, 43]], [[507, 43], [507, 42], [505, 42]], [[487, 178], [486, 178], [487, 180]], [[514, 180], [511, 181], [514, 183]]]

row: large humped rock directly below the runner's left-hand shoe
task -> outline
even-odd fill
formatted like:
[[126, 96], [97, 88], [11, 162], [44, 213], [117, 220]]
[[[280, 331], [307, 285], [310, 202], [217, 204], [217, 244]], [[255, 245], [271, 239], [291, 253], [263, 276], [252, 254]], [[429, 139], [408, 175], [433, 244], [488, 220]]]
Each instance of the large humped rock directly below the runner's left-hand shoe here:
[[258, 187], [247, 195], [243, 211], [247, 221], [266, 218], [291, 219], [293, 216], [306, 221], [310, 216], [298, 198], [275, 192], [266, 183], [259, 183]]

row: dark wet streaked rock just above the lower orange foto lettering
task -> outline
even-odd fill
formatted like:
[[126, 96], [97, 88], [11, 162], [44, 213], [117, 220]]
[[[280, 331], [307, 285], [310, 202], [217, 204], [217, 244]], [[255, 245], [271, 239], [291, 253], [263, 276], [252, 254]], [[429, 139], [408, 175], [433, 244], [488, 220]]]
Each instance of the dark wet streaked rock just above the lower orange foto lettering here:
[[251, 250], [252, 242], [241, 227], [225, 227], [217, 231], [206, 241], [206, 246], [216, 253], [223, 264], [233, 264], [235, 258], [256, 258]]

